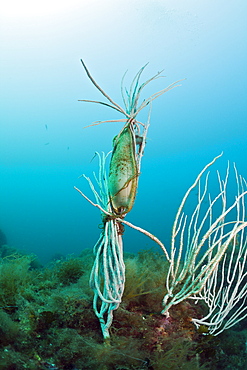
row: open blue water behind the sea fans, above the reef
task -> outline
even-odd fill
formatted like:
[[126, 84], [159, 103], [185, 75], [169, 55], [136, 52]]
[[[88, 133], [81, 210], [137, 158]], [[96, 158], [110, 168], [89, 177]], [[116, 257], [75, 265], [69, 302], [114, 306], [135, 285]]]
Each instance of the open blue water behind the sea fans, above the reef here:
[[[121, 124], [83, 127], [122, 117], [78, 102], [102, 99], [80, 58], [120, 105], [126, 70], [128, 85], [147, 62], [143, 81], [164, 69], [142, 99], [185, 78], [153, 103], [127, 220], [169, 245], [176, 209], [206, 163], [223, 151], [212, 171], [224, 173], [230, 160], [247, 178], [246, 13], [244, 0], [71, 1], [54, 11], [3, 12], [0, 228], [8, 243], [45, 262], [92, 248], [98, 238], [99, 212], [73, 186], [93, 199], [78, 177], [97, 171], [94, 152], [111, 149]], [[129, 252], [154, 245], [133, 230], [124, 244]]]

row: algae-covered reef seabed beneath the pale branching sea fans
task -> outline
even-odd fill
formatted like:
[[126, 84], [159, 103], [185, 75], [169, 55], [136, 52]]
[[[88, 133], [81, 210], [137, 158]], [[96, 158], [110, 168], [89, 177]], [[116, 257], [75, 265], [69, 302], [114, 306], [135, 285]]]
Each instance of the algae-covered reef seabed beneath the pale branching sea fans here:
[[6, 246], [0, 260], [0, 369], [247, 368], [245, 320], [214, 337], [191, 322], [206, 309], [191, 300], [173, 306], [170, 317], [161, 315], [166, 259], [153, 249], [124, 257], [125, 292], [106, 343], [88, 284], [90, 250], [41, 266], [36, 256]]

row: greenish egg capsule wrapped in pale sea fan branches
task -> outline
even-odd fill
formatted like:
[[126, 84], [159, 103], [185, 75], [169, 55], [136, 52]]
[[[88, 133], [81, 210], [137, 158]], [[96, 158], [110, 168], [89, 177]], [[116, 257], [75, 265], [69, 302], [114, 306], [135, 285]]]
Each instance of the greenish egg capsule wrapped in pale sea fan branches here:
[[113, 211], [122, 215], [128, 213], [135, 201], [138, 167], [136, 143], [132, 124], [126, 125], [114, 138], [109, 171], [109, 195]]

